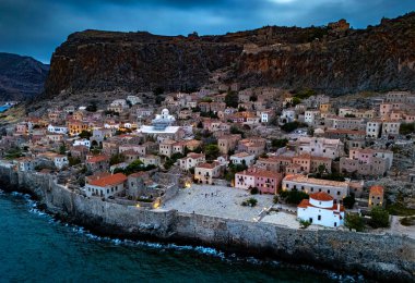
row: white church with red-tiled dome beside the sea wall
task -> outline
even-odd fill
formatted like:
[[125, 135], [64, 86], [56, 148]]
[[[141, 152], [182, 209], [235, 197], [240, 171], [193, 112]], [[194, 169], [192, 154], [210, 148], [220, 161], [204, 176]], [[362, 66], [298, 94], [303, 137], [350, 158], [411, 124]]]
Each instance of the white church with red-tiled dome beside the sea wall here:
[[333, 204], [333, 197], [321, 192], [303, 199], [297, 207], [297, 218], [310, 221], [312, 224], [336, 227], [344, 224], [344, 207]]

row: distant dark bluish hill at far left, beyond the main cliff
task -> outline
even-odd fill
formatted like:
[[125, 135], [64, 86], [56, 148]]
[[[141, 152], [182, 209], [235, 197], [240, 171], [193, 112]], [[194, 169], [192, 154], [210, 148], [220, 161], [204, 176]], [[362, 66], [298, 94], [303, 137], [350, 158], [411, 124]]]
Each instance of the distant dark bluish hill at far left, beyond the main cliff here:
[[31, 57], [0, 52], [0, 101], [40, 94], [48, 72], [49, 65]]

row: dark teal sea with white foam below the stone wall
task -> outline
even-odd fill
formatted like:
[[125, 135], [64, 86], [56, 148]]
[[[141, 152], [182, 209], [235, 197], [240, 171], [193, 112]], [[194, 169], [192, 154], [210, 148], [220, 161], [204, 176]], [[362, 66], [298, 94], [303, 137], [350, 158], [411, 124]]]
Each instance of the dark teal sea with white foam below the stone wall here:
[[0, 190], [0, 282], [364, 282], [209, 247], [98, 237]]

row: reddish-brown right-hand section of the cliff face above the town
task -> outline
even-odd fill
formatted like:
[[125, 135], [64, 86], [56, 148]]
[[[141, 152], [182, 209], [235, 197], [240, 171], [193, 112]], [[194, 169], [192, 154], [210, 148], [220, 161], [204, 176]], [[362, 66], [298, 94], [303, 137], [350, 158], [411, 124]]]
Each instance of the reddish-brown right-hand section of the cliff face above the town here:
[[308, 86], [329, 94], [415, 89], [415, 15], [332, 40], [259, 48], [238, 60], [248, 85]]

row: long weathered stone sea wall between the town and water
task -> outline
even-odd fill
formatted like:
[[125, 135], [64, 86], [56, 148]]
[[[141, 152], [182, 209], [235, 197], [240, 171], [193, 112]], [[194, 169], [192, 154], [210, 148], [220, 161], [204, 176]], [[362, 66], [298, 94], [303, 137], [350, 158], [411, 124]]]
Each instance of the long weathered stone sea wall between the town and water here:
[[5, 189], [36, 196], [47, 210], [95, 233], [194, 244], [298, 263], [360, 272], [380, 281], [413, 282], [415, 241], [390, 234], [294, 230], [270, 223], [215, 218], [176, 210], [145, 210], [87, 198], [48, 174], [0, 165]]

